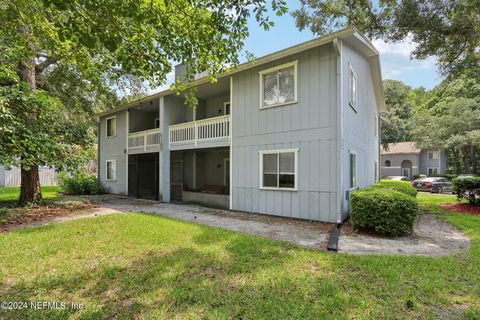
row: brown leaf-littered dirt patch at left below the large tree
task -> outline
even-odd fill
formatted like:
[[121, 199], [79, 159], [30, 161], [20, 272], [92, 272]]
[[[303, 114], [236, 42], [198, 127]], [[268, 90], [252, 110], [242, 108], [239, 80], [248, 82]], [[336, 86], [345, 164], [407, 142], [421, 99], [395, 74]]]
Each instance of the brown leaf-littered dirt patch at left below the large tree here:
[[0, 208], [0, 232], [7, 232], [59, 217], [84, 214], [98, 207], [87, 200], [54, 201], [32, 207]]

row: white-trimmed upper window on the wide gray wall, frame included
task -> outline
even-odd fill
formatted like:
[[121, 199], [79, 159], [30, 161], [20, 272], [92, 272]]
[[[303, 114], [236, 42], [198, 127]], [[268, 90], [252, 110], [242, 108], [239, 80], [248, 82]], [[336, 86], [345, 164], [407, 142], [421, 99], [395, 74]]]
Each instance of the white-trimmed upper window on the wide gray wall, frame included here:
[[260, 71], [260, 109], [297, 102], [297, 61]]

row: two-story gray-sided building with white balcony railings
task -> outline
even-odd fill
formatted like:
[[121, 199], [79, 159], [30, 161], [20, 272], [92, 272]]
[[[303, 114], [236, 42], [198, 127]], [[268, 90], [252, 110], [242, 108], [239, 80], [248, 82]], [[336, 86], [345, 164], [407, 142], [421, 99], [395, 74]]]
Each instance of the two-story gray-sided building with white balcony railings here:
[[378, 179], [380, 62], [355, 29], [193, 85], [196, 109], [167, 90], [98, 115], [109, 192], [341, 222]]

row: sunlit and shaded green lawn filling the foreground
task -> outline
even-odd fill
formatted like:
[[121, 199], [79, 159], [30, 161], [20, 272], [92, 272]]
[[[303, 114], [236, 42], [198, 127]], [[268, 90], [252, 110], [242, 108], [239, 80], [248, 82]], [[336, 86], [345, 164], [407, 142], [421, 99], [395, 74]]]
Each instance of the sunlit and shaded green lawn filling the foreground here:
[[479, 319], [480, 217], [442, 217], [470, 250], [350, 256], [141, 213], [0, 234], [0, 301], [83, 306], [0, 318]]

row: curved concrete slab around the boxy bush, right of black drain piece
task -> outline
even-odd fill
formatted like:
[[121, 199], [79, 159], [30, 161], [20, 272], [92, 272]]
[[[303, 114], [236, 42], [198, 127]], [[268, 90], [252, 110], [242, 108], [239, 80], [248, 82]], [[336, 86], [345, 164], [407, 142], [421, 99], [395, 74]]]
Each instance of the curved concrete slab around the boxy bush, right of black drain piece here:
[[423, 213], [411, 236], [384, 238], [365, 234], [340, 235], [339, 252], [440, 257], [462, 252], [470, 239], [447, 221]]

